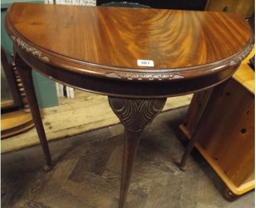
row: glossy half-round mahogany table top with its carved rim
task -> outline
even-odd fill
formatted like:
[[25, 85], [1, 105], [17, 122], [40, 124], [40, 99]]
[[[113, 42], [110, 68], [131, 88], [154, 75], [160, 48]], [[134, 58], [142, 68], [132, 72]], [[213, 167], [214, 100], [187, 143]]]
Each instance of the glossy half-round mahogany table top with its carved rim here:
[[42, 62], [146, 82], [213, 74], [241, 62], [254, 43], [241, 15], [206, 11], [14, 3], [5, 26]]

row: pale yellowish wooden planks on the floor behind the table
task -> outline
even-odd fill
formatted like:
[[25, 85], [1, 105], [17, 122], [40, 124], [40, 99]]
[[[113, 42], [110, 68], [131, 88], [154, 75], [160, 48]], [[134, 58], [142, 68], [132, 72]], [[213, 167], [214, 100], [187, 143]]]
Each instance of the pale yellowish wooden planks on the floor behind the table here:
[[[107, 96], [75, 90], [75, 99], [59, 98], [59, 106], [44, 108], [43, 124], [48, 140], [119, 124]], [[192, 94], [170, 97], [163, 111], [188, 106]], [[36, 129], [1, 140], [1, 153], [39, 144]]]

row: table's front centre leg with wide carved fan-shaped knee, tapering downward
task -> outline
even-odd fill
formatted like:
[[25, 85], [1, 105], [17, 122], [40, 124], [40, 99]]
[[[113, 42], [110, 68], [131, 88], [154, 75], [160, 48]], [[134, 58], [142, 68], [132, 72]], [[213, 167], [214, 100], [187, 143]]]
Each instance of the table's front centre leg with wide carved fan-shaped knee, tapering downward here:
[[108, 97], [109, 105], [125, 126], [123, 166], [119, 208], [124, 208], [129, 189], [133, 163], [139, 139], [145, 126], [150, 124], [165, 105], [164, 99], [120, 99]]

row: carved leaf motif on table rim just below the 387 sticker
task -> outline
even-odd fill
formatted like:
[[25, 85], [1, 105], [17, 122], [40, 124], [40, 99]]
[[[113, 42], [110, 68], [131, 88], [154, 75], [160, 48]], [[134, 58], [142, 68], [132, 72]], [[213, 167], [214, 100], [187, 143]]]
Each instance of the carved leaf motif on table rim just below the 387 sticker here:
[[111, 78], [121, 78], [121, 79], [130, 79], [130, 80], [143, 80], [143, 81], [149, 81], [149, 80], [170, 80], [170, 79], [181, 79], [184, 78], [182, 74], [132, 74], [132, 73], [107, 73], [107, 77]]

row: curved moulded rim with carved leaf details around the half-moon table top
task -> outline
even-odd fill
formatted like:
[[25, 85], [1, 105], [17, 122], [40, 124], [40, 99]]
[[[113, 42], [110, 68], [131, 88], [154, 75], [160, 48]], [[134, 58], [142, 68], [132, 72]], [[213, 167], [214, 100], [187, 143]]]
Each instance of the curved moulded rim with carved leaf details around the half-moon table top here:
[[[254, 35], [252, 35], [248, 40], [245, 47], [234, 55], [227, 57], [217, 62], [196, 65], [196, 66], [186, 66], [184, 68], [166, 68], [166, 69], [141, 69], [141, 68], [122, 68], [118, 66], [107, 66], [95, 63], [84, 62], [82, 60], [73, 59], [70, 57], [65, 57], [60, 54], [45, 50], [33, 42], [30, 42], [24, 38], [15, 28], [13, 28], [9, 22], [8, 14], [10, 8], [8, 8], [5, 14], [5, 27], [10, 38], [18, 45], [22, 50], [31, 54], [35, 58], [42, 60], [45, 63], [54, 63], [55, 66], [76, 71], [79, 74], [96, 76], [101, 78], [110, 79], [123, 79], [126, 81], [170, 81], [173, 79], [183, 79], [183, 78], [193, 78], [202, 75], [202, 70], [204, 75], [210, 75], [213, 71], [220, 71], [231, 66], [239, 64], [243, 59], [245, 59], [248, 54], [252, 51], [254, 46]], [[74, 69], [69, 67], [69, 65], [76, 64]], [[90, 71], [91, 70], [91, 71]], [[130, 70], [130, 71], [129, 71]], [[161, 71], [159, 71], [161, 70]], [[142, 72], [143, 71], [143, 72]], [[191, 72], [192, 71], [192, 72]]]

